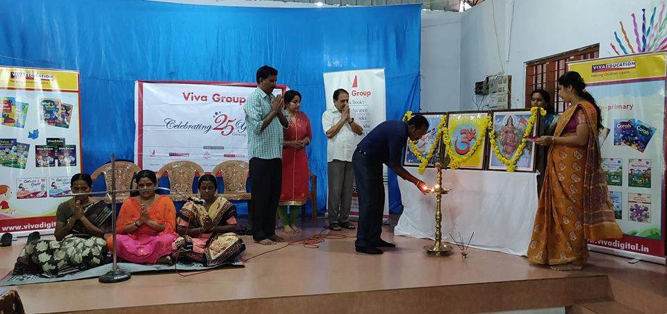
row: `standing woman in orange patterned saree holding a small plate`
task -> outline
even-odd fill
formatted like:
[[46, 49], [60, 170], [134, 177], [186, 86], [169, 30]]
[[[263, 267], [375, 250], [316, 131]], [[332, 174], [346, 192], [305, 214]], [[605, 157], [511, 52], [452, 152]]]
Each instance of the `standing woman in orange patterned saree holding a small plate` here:
[[587, 240], [623, 236], [600, 164], [600, 107], [585, 88], [577, 72], [558, 79], [559, 96], [570, 107], [559, 117], [553, 136], [536, 139], [550, 150], [528, 258], [553, 270], [582, 269]]

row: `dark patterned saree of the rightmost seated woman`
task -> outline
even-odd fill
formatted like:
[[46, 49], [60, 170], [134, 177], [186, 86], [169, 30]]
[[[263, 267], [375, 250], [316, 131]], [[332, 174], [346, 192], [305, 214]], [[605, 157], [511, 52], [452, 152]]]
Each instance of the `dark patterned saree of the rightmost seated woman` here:
[[[206, 207], [193, 202], [186, 202], [179, 212], [177, 223], [181, 227], [199, 228], [204, 219], [209, 218], [213, 225], [236, 225], [236, 207], [229, 200], [218, 196], [208, 211]], [[199, 261], [205, 266], [217, 266], [236, 258], [245, 251], [241, 238], [231, 232], [201, 233], [197, 237], [179, 236], [174, 241], [174, 258], [185, 257]]]

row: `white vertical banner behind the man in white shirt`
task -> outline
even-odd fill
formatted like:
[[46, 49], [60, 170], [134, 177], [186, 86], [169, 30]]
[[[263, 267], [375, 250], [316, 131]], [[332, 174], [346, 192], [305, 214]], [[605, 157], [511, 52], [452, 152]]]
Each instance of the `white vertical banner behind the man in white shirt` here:
[[[334, 91], [345, 89], [349, 93], [349, 109], [356, 116], [355, 121], [363, 128], [361, 140], [370, 130], [386, 121], [386, 85], [384, 69], [365, 69], [324, 73], [324, 98], [327, 109], [334, 107]], [[387, 193], [387, 170], [384, 167], [384, 219], [389, 219]], [[327, 196], [328, 197], [328, 196]], [[351, 218], [359, 217], [359, 194], [356, 184], [352, 190]]]

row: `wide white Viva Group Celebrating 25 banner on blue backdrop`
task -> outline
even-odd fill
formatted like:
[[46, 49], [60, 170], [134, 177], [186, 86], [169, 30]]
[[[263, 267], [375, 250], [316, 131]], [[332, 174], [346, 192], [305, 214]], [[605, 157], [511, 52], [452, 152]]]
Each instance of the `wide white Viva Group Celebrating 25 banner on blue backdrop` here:
[[[256, 84], [135, 82], [135, 162], [157, 171], [187, 160], [204, 171], [248, 160], [243, 105]], [[284, 88], [284, 87], [283, 87]], [[281, 88], [274, 94], [281, 94]]]

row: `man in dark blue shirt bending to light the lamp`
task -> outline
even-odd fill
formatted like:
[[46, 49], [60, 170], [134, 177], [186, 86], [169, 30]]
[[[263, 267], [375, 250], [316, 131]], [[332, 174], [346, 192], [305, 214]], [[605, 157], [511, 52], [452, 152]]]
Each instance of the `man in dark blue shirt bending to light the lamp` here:
[[386, 164], [403, 180], [415, 184], [422, 193], [429, 187], [401, 166], [403, 148], [409, 138], [417, 141], [429, 130], [429, 121], [415, 115], [408, 122], [384, 121], [375, 127], [356, 147], [352, 168], [359, 191], [359, 225], [356, 232], [356, 252], [382, 254], [378, 247], [395, 247], [380, 238], [384, 211], [382, 164]]

